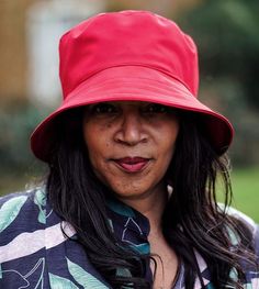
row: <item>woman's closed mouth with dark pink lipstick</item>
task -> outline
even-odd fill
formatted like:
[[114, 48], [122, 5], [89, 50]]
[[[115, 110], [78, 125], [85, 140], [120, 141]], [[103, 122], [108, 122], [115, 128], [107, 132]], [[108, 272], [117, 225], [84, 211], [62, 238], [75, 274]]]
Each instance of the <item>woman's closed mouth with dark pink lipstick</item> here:
[[113, 159], [116, 166], [126, 173], [143, 171], [148, 166], [150, 160], [150, 158], [144, 157], [124, 157], [120, 159]]

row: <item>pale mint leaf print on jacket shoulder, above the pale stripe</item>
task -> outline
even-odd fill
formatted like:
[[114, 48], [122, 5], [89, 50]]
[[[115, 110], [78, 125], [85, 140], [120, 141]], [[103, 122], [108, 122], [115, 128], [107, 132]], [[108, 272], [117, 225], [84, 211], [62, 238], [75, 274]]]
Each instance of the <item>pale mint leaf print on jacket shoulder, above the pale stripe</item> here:
[[21, 196], [3, 203], [0, 209], [0, 233], [16, 219], [27, 197]]

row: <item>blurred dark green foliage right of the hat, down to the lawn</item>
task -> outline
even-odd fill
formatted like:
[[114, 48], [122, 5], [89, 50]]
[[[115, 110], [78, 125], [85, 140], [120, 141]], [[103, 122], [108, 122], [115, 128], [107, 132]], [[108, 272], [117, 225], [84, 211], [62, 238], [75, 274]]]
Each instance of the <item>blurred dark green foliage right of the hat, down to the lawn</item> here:
[[201, 99], [223, 112], [236, 134], [236, 165], [259, 164], [259, 1], [207, 0], [178, 22], [198, 44]]

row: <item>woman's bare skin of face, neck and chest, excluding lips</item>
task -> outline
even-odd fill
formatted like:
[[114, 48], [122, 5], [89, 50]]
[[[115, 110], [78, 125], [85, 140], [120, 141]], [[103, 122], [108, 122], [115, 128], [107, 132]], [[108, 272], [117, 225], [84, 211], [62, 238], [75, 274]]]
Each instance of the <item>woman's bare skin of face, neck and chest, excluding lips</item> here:
[[[158, 264], [154, 288], [171, 288], [178, 259], [164, 238], [160, 221], [168, 200], [165, 175], [179, 132], [176, 111], [150, 102], [102, 102], [86, 108], [82, 127], [97, 177], [149, 220], [148, 241]], [[114, 162], [124, 157], [149, 160], [140, 171], [128, 173]]]

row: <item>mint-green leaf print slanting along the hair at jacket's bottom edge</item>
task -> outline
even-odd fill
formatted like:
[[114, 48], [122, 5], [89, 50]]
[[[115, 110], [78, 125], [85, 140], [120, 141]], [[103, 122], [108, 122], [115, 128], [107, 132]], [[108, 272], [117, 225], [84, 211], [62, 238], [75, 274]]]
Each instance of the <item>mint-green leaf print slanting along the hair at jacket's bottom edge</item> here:
[[70, 262], [67, 258], [68, 270], [74, 279], [85, 289], [109, 289], [105, 285], [99, 281], [94, 276], [82, 269], [79, 265]]

